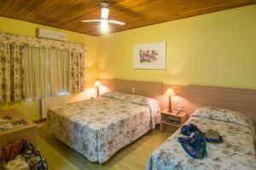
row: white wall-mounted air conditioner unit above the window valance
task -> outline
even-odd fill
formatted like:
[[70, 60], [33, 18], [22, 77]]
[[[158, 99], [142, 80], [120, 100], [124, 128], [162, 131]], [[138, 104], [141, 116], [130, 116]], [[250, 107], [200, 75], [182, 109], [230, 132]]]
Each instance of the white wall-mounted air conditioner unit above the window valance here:
[[37, 28], [37, 37], [44, 37], [53, 40], [67, 41], [67, 35], [64, 32], [51, 31], [43, 28]]

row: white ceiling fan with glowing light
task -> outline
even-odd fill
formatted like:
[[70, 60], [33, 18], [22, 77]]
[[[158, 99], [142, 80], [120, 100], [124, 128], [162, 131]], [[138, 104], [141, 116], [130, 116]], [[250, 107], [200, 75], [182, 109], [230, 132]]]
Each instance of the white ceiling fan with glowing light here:
[[101, 14], [101, 19], [96, 19], [96, 20], [81, 20], [81, 22], [100, 22], [100, 28], [102, 30], [102, 33], [107, 33], [108, 32], [108, 23], [111, 24], [116, 24], [120, 26], [124, 26], [125, 22], [121, 22], [119, 20], [108, 20], [108, 1], [102, 1], [102, 14]]

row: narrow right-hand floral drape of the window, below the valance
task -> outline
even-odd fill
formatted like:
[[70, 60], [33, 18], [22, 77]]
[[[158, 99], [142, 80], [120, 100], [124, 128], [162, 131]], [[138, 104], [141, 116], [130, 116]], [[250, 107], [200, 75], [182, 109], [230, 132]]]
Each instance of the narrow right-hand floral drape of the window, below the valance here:
[[84, 90], [84, 53], [70, 52], [69, 55], [69, 92]]

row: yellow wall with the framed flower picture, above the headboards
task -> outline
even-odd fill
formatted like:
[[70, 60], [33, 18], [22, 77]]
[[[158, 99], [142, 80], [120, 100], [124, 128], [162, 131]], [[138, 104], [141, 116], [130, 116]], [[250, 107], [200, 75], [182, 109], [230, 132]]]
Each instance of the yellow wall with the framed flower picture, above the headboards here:
[[[166, 41], [166, 70], [134, 70], [135, 44]], [[97, 39], [98, 77], [256, 88], [256, 5]]]

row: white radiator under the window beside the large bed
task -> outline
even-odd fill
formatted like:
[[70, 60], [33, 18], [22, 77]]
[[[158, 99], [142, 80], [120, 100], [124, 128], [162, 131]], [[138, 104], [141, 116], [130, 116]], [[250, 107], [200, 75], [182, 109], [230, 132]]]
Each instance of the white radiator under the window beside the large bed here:
[[71, 94], [56, 95], [51, 97], [44, 97], [41, 99], [41, 119], [47, 118], [47, 111], [49, 108], [64, 105], [67, 103]]

